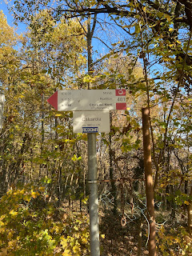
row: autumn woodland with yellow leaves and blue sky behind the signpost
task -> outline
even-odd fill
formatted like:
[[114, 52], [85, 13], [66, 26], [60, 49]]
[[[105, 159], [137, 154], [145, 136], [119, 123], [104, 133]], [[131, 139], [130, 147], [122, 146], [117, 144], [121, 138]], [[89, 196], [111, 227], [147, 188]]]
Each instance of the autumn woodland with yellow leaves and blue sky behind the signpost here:
[[128, 106], [97, 137], [102, 255], [148, 254], [143, 107], [158, 255], [192, 254], [192, 1], [7, 4], [26, 31], [0, 12], [0, 254], [89, 254], [86, 134], [46, 99], [90, 82], [126, 89]]

